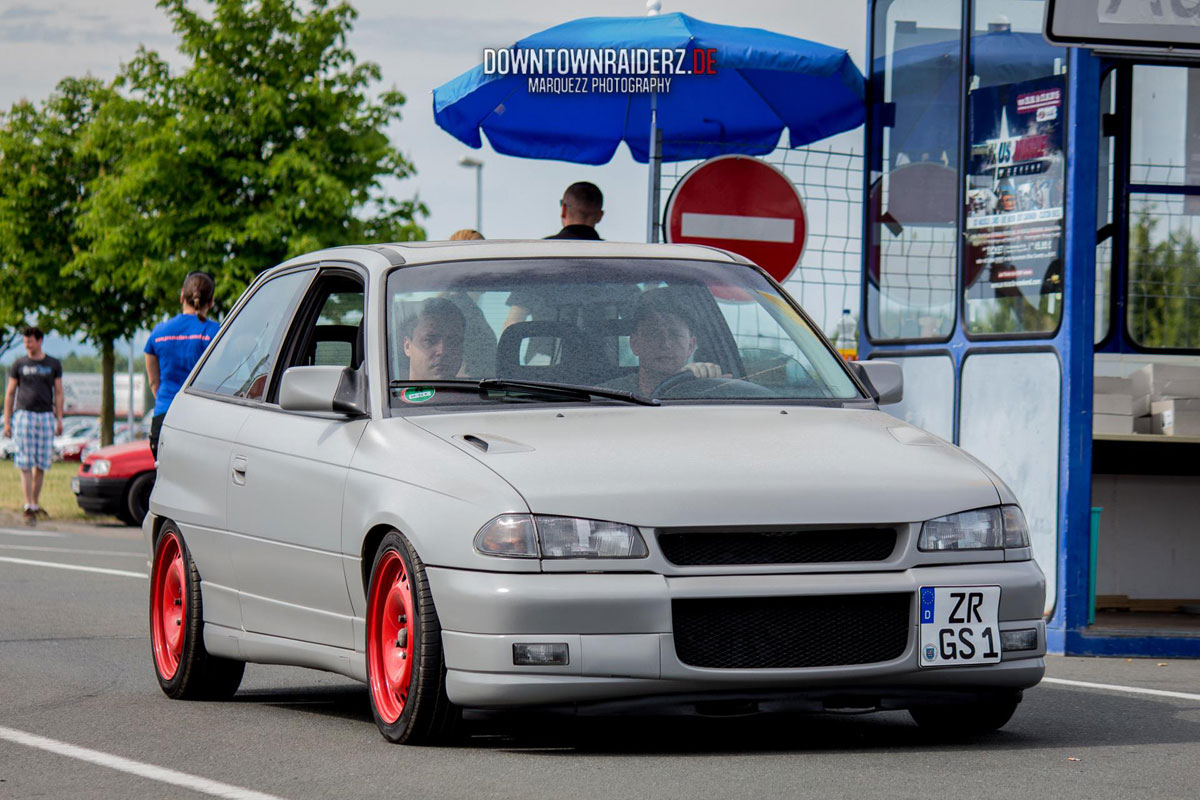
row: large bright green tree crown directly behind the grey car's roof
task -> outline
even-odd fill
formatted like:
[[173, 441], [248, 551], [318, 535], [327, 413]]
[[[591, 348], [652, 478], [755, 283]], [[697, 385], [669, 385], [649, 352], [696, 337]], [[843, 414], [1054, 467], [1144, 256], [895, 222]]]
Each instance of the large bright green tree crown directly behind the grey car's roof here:
[[[139, 49], [96, 124], [101, 157], [76, 266], [119, 275], [163, 309], [190, 270], [216, 277], [228, 307], [259, 271], [329, 245], [424, 239], [416, 200], [384, 193], [413, 174], [386, 126], [396, 90], [359, 64], [346, 37], [355, 12], [328, 0], [160, 0], [188, 59], [178, 74]], [[133, 132], [130, 136], [130, 132]]]

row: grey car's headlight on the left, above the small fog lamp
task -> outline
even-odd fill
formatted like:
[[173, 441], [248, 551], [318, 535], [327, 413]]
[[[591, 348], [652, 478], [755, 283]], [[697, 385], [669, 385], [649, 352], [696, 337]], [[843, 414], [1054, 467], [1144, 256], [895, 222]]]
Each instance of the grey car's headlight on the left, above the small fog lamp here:
[[649, 553], [632, 525], [524, 513], [502, 515], [480, 528], [475, 549], [484, 555], [544, 559], [637, 559]]

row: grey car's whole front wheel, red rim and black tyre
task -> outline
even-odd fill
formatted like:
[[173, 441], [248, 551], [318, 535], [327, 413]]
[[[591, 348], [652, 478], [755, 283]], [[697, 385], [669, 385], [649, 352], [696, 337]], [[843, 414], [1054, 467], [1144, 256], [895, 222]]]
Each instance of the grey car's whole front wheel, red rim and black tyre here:
[[407, 745], [450, 740], [461, 714], [446, 697], [442, 625], [425, 565], [397, 531], [383, 537], [372, 561], [366, 636], [371, 712], [384, 739]]

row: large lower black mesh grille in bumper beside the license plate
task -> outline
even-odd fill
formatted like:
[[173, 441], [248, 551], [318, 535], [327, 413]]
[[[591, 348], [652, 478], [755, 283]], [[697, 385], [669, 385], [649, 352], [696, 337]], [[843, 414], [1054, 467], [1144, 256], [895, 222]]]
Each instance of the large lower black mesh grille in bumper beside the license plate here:
[[908, 644], [910, 594], [676, 600], [679, 661], [786, 669], [892, 661]]

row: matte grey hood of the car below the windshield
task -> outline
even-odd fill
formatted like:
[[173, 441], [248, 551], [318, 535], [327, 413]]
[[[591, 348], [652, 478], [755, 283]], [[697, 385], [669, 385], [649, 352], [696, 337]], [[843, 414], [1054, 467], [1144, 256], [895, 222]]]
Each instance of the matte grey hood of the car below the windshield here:
[[876, 524], [998, 503], [965, 453], [877, 410], [554, 407], [408, 420], [486, 464], [534, 513], [650, 527]]

